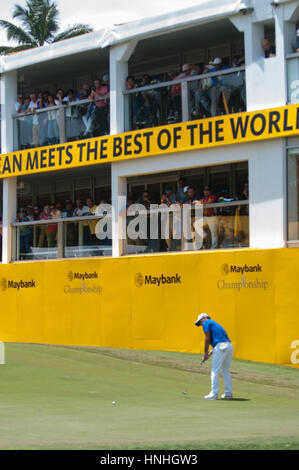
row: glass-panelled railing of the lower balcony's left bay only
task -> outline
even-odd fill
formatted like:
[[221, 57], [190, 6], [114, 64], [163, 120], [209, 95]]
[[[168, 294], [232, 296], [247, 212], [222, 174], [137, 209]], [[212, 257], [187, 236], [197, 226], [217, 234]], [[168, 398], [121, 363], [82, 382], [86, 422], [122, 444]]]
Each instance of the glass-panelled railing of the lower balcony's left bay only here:
[[[106, 217], [111, 223], [111, 216]], [[111, 256], [111, 239], [97, 236], [102, 219], [84, 216], [13, 223], [14, 261]]]

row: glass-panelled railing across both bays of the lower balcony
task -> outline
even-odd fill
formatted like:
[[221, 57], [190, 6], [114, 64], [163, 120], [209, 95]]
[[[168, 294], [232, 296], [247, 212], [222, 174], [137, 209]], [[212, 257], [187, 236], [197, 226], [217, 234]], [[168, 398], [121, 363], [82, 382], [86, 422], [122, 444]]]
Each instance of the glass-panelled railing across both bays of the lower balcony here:
[[[127, 210], [123, 254], [249, 246], [249, 201], [155, 205], [151, 210], [142, 207], [137, 210], [138, 221], [136, 205]], [[132, 232], [130, 224], [136, 228], [137, 222], [141, 227], [142, 217], [145, 230]], [[112, 255], [109, 212], [105, 216], [15, 222], [12, 227], [14, 261]]]

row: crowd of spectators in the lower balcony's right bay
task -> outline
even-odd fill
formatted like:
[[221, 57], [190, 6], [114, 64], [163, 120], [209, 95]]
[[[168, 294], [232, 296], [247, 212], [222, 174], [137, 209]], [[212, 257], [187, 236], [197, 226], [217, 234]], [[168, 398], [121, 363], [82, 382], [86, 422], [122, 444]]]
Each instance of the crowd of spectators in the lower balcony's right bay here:
[[[232, 243], [237, 243], [240, 246], [247, 246], [249, 236], [248, 204], [229, 206], [229, 203], [237, 200], [248, 201], [248, 199], [248, 182], [244, 183], [241, 194], [233, 197], [229, 194], [229, 190], [227, 188], [222, 189], [219, 195], [216, 195], [210, 186], [204, 186], [203, 190], [199, 191], [194, 186], [186, 186], [185, 180], [181, 179], [179, 181], [177, 191], [173, 192], [171, 187], [166, 188], [160, 201], [156, 201], [152, 198], [148, 191], [144, 191], [141, 197], [136, 198], [134, 195], [129, 196], [127, 203], [127, 214], [129, 214], [127, 217], [127, 224], [133, 218], [129, 208], [134, 203], [143, 205], [147, 211], [149, 211], [151, 204], [158, 204], [161, 208], [183, 207], [185, 204], [194, 206], [195, 204], [227, 203], [225, 206], [203, 208], [203, 248], [226, 248], [232, 246]], [[136, 240], [129, 238], [127, 240], [128, 245], [131, 245], [130, 252], [137, 252], [138, 248], [136, 248], [136, 246], [138, 247], [140, 245], [145, 246], [145, 251], [147, 252], [180, 250], [182, 237], [180, 233], [177, 233], [176, 235], [174, 234], [172, 217], [175, 217], [175, 215], [171, 215], [170, 212], [169, 236], [165, 240], [162, 239], [161, 236], [159, 236], [158, 239], [151, 239], [150, 226], [148, 224], [147, 240], [139, 238]], [[191, 216], [192, 231], [194, 231], [194, 222], [195, 218]], [[197, 249], [196, 241], [194, 247]]]

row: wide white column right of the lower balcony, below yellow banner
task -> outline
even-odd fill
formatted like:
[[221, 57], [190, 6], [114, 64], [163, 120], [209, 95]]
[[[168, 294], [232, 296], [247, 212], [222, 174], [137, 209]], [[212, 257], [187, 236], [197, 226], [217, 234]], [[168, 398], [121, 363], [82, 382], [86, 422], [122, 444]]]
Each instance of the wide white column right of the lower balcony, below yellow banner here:
[[283, 248], [287, 223], [284, 139], [252, 144], [250, 150], [250, 248]]

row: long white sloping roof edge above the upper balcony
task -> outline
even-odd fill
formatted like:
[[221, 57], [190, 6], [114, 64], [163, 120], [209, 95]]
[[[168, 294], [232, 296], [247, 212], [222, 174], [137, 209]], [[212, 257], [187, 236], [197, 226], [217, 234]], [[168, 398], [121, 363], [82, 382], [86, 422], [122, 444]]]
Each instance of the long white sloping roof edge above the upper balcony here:
[[244, 0], [199, 0], [198, 4], [193, 7], [122, 25], [108, 26], [75, 38], [1, 56], [0, 73], [215, 21], [238, 14], [247, 4], [248, 1]]

